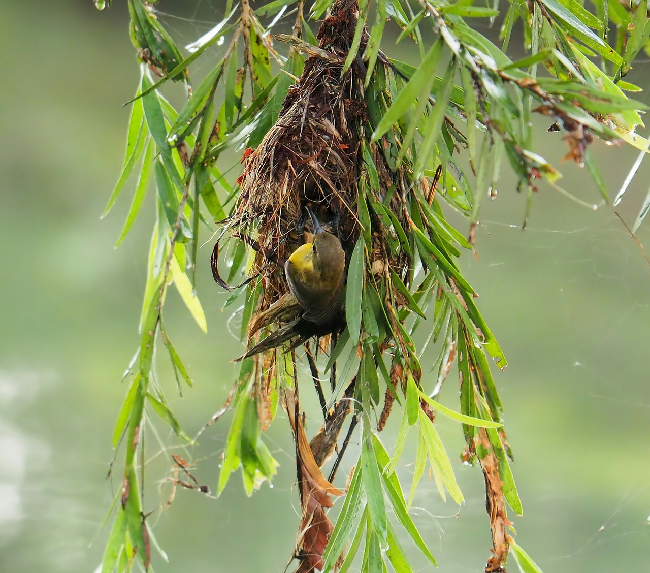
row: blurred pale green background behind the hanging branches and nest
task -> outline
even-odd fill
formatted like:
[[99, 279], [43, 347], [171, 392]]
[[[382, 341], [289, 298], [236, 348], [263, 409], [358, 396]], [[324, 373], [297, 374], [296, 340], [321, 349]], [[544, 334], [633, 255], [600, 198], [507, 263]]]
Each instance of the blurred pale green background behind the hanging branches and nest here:
[[[161, 20], [180, 44], [207, 31], [223, 10], [218, 0], [160, 4], [167, 12]], [[114, 250], [127, 192], [99, 220], [122, 165], [128, 116], [122, 103], [135, 92], [138, 68], [122, 0], [105, 12], [90, 0], [5, 0], [1, 12], [0, 570], [92, 572], [108, 533], [98, 534], [112, 500], [110, 438], [126, 392], [122, 373], [138, 345], [153, 221], [144, 209]], [[398, 49], [389, 47], [389, 54], [417, 56], [404, 52], [408, 46]], [[627, 79], [647, 83], [642, 67]], [[648, 102], [646, 92], [638, 95]], [[562, 186], [600, 204], [585, 170], [560, 165], [565, 144], [545, 127], [539, 124], [537, 150], [564, 172]], [[636, 152], [602, 142], [592, 150], [616, 193]], [[461, 263], [510, 361], [495, 377], [525, 507], [525, 516], [510, 516], [517, 541], [545, 573], [647, 570], [650, 268], [611, 207], [586, 209], [543, 184], [522, 232], [525, 197], [503, 171], [497, 200], [482, 212], [479, 258], [466, 254]], [[649, 172], [650, 165], [642, 166], [619, 206], [630, 223]], [[450, 219], [467, 229], [453, 213]], [[639, 238], [650, 245], [649, 237], [645, 226]], [[189, 434], [224, 402], [235, 374], [231, 360], [241, 351], [221, 312], [226, 295], [209, 276], [211, 247], [201, 248], [199, 267], [208, 335], [175, 293], [166, 312], [167, 330], [195, 380], [182, 399], [172, 399]], [[160, 374], [171, 398], [175, 382], [165, 367]], [[454, 380], [442, 394], [452, 407]], [[308, 433], [318, 427], [317, 408], [312, 412]], [[199, 462], [195, 475], [213, 489], [228, 424], [225, 416], [207, 429], [191, 452]], [[441, 571], [478, 573], [491, 546], [482, 475], [458, 461], [460, 427], [439, 424], [466, 503], [460, 509], [443, 503], [425, 476], [414, 504], [417, 523]], [[389, 444], [393, 430], [383, 434]], [[161, 440], [174, 443], [165, 429]], [[299, 505], [283, 414], [267, 443], [281, 463], [272, 488], [263, 486], [249, 500], [236, 475], [219, 500], [178, 490], [163, 510], [171, 464], [149, 438], [153, 486], [145, 503], [156, 510], [149, 522], [170, 559], [164, 563], [154, 550], [156, 571], [285, 568]], [[405, 486], [412, 454], [402, 457]], [[118, 475], [113, 487], [119, 486]], [[413, 563], [434, 570], [415, 550]]]

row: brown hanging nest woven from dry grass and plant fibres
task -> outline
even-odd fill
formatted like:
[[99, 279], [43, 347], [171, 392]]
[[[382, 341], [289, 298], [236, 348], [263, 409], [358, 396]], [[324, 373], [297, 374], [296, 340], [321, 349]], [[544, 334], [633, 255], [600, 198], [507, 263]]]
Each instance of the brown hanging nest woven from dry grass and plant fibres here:
[[[229, 228], [257, 251], [251, 272], [262, 281], [258, 312], [288, 291], [283, 263], [305, 241], [305, 207], [341, 239], [346, 262], [361, 233], [357, 202], [359, 178], [365, 171], [361, 139], [367, 126], [366, 70], [359, 58], [342, 74], [356, 27], [349, 5], [349, 0], [340, 2], [340, 8], [332, 10], [318, 32], [320, 48], [333, 57], [312, 55], [306, 60], [276, 124], [246, 157]], [[359, 53], [363, 53], [363, 44]], [[380, 176], [378, 200], [382, 201], [385, 190], [396, 176], [401, 179], [402, 173], [389, 173], [375, 146], [370, 146], [370, 152]], [[406, 212], [402, 198], [403, 193], [394, 193], [388, 206], [400, 220]], [[382, 226], [373, 221], [372, 227]], [[402, 274], [398, 267], [403, 270], [408, 261], [389, 261], [387, 252], [383, 233], [375, 232], [370, 260], [385, 261]], [[387, 265], [374, 265], [374, 269], [387, 272]]]

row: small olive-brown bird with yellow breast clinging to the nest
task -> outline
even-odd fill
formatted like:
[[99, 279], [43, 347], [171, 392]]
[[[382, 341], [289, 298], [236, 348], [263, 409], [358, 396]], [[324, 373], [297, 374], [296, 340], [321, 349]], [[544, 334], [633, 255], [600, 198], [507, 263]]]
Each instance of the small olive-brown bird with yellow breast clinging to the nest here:
[[311, 243], [296, 248], [285, 263], [289, 289], [311, 323], [328, 323], [339, 310], [345, 282], [345, 253], [341, 241], [320, 226], [307, 209], [314, 227]]

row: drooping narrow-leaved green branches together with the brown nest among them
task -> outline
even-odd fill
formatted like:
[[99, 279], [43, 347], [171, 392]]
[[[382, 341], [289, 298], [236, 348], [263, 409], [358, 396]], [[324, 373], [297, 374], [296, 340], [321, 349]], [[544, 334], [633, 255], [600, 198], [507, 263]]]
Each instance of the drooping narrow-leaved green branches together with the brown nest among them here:
[[[140, 347], [129, 364], [130, 388], [113, 434], [125, 459], [103, 572], [150, 565], [151, 531], [141, 496], [148, 415], [192, 442], [167, 405], [153, 359], [162, 343], [179, 392], [184, 382], [192, 385], [164, 328], [163, 310], [174, 284], [207, 330], [194, 291], [200, 227], [216, 223], [221, 233], [214, 278], [231, 291], [226, 306], [240, 302], [246, 341], [248, 325], [287, 291], [279, 263], [300, 239], [296, 220], [307, 203], [337, 220], [347, 258], [344, 320], [304, 350], [280, 346], [242, 360], [215, 416], [234, 410], [217, 493], [239, 469], [248, 494], [274, 477], [278, 464], [263, 434], [280, 405], [296, 442], [303, 510], [294, 553], [298, 571], [348, 570], [362, 545], [364, 571], [387, 570], [387, 563], [410, 571], [399, 542], [402, 530], [435, 563], [409, 506], [427, 464], [443, 500], [448, 494], [463, 503], [435, 424], [435, 416], [448, 416], [461, 423], [461, 459], [476, 464], [486, 483], [493, 540], [486, 572], [504, 571], [509, 554], [523, 570], [538, 571], [513, 540], [508, 519], [508, 507], [521, 514], [522, 506], [489, 364], [491, 358], [503, 369], [506, 358], [457, 260], [474, 248], [481, 200], [495, 192], [504, 159], [529, 207], [539, 181], [558, 186], [558, 170], [534, 152], [533, 114], [547, 116], [562, 132], [565, 158], [588, 168], [605, 200], [590, 144], [623, 140], [647, 150], [649, 142], [635, 133], [646, 106], [625, 95], [638, 88], [623, 81], [648, 44], [647, 0], [597, 0], [595, 14], [577, 0], [495, 0], [489, 7], [471, 0], [317, 0], [311, 7], [304, 0], [274, 0], [255, 9], [248, 0], [228, 0], [224, 19], [187, 47], [187, 57], [157, 19], [155, 5], [128, 0], [128, 6], [142, 76], [131, 102], [123, 171], [106, 213], [138, 166], [118, 245], [152, 179], [157, 219]], [[473, 29], [478, 18], [499, 18], [501, 47]], [[320, 21], [317, 35], [309, 20]], [[269, 33], [281, 25], [291, 33]], [[397, 42], [412, 43], [417, 67], [384, 51], [388, 26], [397, 27]], [[516, 28], [528, 55], [513, 62], [506, 51]], [[222, 45], [211, 71], [190, 87], [192, 62], [213, 58], [209, 50]], [[161, 92], [168, 80], [187, 85], [187, 103], [178, 111]], [[243, 156], [234, 185], [226, 177], [233, 166], [222, 165], [227, 151]], [[447, 222], [445, 209], [466, 217], [467, 237]], [[224, 235], [235, 241], [226, 256], [218, 248]], [[226, 277], [220, 263], [229, 265]], [[230, 287], [234, 280], [242, 284]], [[418, 328], [428, 331], [419, 349], [413, 341]], [[422, 356], [434, 348], [433, 375], [427, 375]], [[460, 411], [438, 401], [454, 363]], [[331, 381], [329, 397], [320, 383], [323, 373]], [[324, 423], [309, 442], [298, 388], [305, 392], [312, 385]], [[395, 403], [402, 422], [389, 453], [378, 433]], [[322, 467], [349, 414], [346, 438], [326, 478]], [[361, 451], [345, 490], [332, 482], [357, 424]], [[417, 454], [406, 497], [396, 468], [408, 436], [417, 440]], [[187, 469], [183, 460], [175, 463]], [[337, 496], [344, 501], [333, 524], [327, 509]]]

